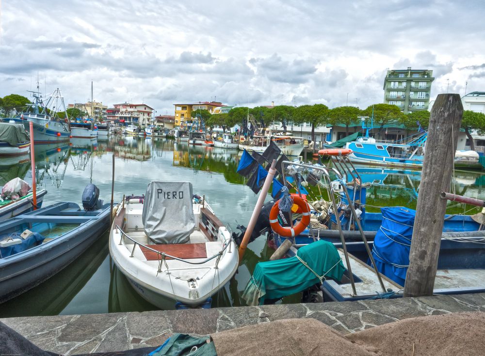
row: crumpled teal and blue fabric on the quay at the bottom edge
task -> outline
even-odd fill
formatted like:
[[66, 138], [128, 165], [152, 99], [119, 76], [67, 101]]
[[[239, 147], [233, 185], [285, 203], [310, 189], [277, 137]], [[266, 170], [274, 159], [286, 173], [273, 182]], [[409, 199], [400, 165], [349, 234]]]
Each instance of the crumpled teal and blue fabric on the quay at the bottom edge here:
[[190, 336], [176, 333], [147, 356], [217, 356], [209, 336]]

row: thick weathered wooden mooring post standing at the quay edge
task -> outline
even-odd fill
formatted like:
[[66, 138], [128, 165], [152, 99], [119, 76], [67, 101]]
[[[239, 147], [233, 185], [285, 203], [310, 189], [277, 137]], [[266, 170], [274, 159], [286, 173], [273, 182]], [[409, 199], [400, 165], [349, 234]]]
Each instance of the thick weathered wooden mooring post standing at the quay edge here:
[[446, 210], [446, 200], [440, 199], [440, 194], [450, 189], [462, 115], [463, 105], [459, 94], [437, 96], [431, 110], [421, 171], [409, 268], [404, 285], [404, 296], [407, 297], [433, 294]]

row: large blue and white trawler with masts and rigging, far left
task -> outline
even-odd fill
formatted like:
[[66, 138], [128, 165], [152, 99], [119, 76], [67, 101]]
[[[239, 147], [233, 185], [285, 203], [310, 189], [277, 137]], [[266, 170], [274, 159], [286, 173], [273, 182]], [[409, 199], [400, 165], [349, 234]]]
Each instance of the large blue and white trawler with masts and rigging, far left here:
[[[46, 103], [42, 100], [41, 93], [32, 92], [33, 103], [29, 104], [28, 108], [20, 113], [15, 118], [6, 118], [2, 121], [8, 123], [14, 121], [16, 124], [22, 124], [27, 132], [30, 132], [30, 122], [33, 123], [33, 138], [34, 143], [56, 143], [68, 141], [71, 135], [67, 119], [61, 119], [52, 116], [48, 113], [47, 108], [59, 108], [60, 105], [64, 105], [64, 99], [61, 96], [59, 89], [55, 90], [49, 96]], [[65, 106], [64, 106], [65, 111]]]

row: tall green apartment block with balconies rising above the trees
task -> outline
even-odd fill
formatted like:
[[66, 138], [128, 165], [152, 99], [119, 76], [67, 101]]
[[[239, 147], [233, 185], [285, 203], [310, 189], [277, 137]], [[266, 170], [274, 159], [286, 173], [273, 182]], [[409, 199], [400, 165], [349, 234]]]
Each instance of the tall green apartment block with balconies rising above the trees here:
[[428, 69], [388, 70], [384, 78], [384, 103], [398, 106], [405, 114], [427, 110], [433, 80], [433, 71]]

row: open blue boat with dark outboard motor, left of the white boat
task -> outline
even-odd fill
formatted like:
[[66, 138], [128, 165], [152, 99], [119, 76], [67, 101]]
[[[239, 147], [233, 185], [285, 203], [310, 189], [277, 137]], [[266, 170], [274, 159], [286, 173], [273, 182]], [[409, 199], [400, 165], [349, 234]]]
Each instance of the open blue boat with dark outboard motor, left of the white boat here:
[[109, 227], [110, 204], [88, 185], [83, 208], [59, 202], [0, 223], [0, 303], [75, 261]]

